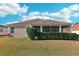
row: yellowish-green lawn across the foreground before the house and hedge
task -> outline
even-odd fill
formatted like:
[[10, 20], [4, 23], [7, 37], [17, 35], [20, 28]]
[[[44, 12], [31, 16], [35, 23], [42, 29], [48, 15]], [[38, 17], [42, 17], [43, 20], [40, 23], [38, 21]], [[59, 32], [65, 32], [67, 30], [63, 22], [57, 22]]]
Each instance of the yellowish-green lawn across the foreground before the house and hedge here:
[[1, 56], [64, 56], [79, 55], [79, 41], [30, 40], [0, 38]]

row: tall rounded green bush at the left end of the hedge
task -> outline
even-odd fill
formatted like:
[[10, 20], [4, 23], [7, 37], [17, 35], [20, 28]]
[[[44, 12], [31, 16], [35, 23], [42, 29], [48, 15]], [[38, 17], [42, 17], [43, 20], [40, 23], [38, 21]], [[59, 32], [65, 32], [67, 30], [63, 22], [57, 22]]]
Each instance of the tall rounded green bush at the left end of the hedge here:
[[27, 27], [27, 34], [30, 39], [38, 39], [38, 32], [33, 27]]

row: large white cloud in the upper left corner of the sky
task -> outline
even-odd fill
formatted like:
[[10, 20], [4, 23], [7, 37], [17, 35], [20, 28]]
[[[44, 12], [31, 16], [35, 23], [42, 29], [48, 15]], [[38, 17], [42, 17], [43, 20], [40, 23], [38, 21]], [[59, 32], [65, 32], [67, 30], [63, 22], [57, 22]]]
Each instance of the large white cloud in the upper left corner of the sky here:
[[28, 7], [24, 5], [24, 7], [20, 7], [17, 3], [0, 3], [0, 17], [12, 14], [22, 14], [27, 12]]

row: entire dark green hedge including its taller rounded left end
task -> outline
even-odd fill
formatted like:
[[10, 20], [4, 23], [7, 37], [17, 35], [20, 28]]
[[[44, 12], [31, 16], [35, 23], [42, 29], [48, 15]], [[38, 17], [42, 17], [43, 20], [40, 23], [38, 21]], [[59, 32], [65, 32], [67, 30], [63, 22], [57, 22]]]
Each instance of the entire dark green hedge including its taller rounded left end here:
[[59, 33], [59, 32], [37, 32], [35, 28], [27, 28], [28, 37], [31, 39], [60, 39], [60, 40], [77, 40], [78, 35], [75, 33]]

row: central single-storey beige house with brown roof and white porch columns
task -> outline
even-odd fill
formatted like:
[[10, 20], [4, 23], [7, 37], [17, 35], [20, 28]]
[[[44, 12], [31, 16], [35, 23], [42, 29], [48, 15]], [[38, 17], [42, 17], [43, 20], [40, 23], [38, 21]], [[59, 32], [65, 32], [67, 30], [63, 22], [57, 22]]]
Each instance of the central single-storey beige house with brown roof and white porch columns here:
[[40, 32], [70, 32], [70, 23], [49, 19], [33, 19], [8, 25], [8, 33], [13, 37], [28, 37], [27, 27], [34, 27]]

